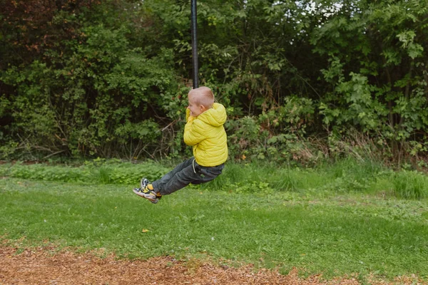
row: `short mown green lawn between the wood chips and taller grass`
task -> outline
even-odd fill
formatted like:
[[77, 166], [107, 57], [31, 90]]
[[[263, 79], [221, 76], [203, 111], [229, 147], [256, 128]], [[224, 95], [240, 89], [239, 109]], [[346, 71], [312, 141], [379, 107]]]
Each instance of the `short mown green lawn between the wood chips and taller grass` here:
[[188, 187], [151, 204], [131, 189], [4, 177], [0, 237], [21, 248], [54, 244], [103, 248], [123, 258], [210, 257], [283, 273], [297, 267], [326, 278], [428, 279], [426, 198]]

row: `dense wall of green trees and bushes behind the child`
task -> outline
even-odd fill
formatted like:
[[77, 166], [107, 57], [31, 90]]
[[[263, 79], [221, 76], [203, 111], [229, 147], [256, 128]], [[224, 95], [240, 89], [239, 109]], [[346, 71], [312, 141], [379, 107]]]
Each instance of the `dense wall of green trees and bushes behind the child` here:
[[[0, 159], [190, 155], [190, 1], [0, 0]], [[198, 1], [230, 157], [427, 167], [426, 0]]]

